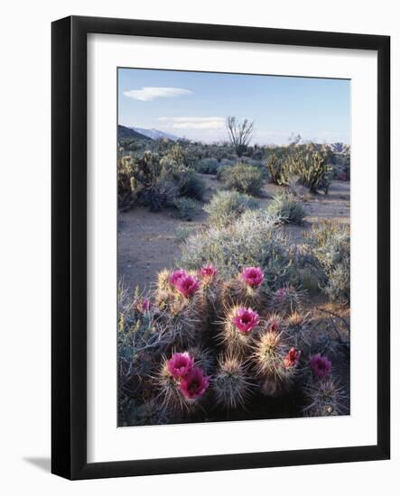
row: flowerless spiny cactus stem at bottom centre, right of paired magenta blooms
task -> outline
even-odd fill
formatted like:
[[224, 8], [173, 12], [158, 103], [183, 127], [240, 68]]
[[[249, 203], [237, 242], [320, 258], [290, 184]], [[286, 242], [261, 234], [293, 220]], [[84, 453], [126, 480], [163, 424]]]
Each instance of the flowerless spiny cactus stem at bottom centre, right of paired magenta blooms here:
[[234, 355], [219, 359], [219, 368], [212, 385], [217, 404], [226, 409], [245, 407], [253, 386], [244, 363]]

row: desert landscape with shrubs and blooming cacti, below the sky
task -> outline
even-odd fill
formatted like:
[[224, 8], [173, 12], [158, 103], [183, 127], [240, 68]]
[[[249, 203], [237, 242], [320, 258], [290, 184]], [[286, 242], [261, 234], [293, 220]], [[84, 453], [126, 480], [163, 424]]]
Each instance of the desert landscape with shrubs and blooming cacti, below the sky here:
[[119, 136], [119, 425], [349, 414], [349, 147]]

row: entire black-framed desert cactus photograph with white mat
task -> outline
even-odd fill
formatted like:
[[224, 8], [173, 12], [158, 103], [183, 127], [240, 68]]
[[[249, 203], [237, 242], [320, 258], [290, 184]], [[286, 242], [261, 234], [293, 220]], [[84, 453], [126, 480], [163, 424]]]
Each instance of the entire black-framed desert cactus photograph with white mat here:
[[390, 39], [52, 23], [52, 461], [390, 456]]

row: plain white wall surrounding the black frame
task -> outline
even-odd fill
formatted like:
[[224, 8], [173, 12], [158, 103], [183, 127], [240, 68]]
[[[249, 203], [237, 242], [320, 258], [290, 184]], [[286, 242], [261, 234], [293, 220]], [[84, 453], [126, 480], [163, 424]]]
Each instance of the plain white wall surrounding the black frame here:
[[[400, 186], [395, 164], [400, 153], [400, 28], [396, 2], [366, 0], [291, 0], [235, 5], [226, 0], [113, 0], [66, 2], [6, 2], [0, 30], [2, 76], [0, 116], [2, 136], [0, 212], [0, 491], [21, 494], [98, 495], [110, 491], [136, 494], [193, 495], [276, 494], [293, 491], [323, 496], [353, 492], [376, 494], [397, 487], [400, 469], [398, 428], [393, 422], [393, 459], [368, 464], [321, 465], [168, 475], [138, 479], [66, 482], [50, 475], [50, 23], [69, 15], [98, 15], [198, 23], [227, 23], [338, 32], [367, 32], [392, 36], [392, 163], [393, 192]], [[393, 202], [398, 212], [399, 202]], [[395, 229], [395, 221], [393, 221]], [[397, 239], [395, 239], [395, 235]], [[398, 226], [393, 253], [399, 250]], [[392, 265], [399, 279], [398, 263]], [[396, 292], [395, 292], [396, 290]], [[398, 286], [393, 286], [393, 302]], [[393, 312], [393, 349], [398, 317]], [[395, 354], [393, 354], [395, 359]], [[393, 360], [395, 362], [395, 360]], [[398, 364], [393, 364], [395, 385]], [[393, 418], [399, 418], [398, 386], [393, 387]], [[41, 468], [44, 466], [46, 470]], [[6, 486], [5, 489], [3, 486]]]

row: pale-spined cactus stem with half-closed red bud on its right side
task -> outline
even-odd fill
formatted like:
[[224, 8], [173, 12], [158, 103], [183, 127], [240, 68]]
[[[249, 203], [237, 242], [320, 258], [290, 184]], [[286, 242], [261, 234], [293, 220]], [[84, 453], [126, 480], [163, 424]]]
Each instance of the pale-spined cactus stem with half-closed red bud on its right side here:
[[278, 396], [293, 382], [300, 351], [290, 348], [284, 332], [264, 330], [253, 345], [252, 360], [260, 389], [266, 396]]

